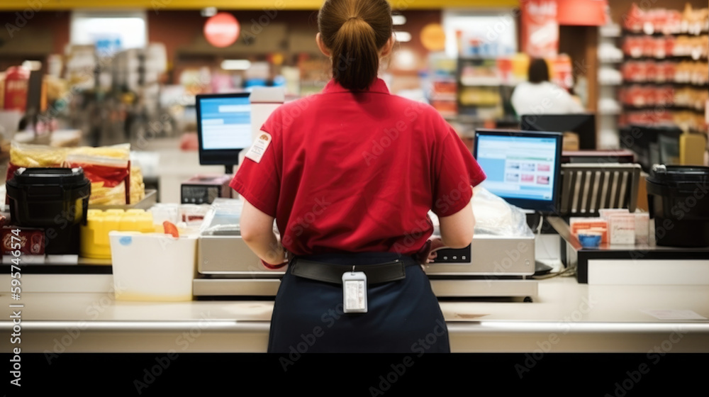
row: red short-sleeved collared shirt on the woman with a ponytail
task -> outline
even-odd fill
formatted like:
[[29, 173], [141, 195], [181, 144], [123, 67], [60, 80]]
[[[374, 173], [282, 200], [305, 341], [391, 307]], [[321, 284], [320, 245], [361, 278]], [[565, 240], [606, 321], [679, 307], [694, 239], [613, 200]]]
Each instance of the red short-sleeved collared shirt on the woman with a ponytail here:
[[434, 108], [389, 94], [381, 79], [357, 93], [330, 81], [277, 108], [261, 130], [269, 145], [230, 186], [276, 218], [295, 255], [411, 255], [433, 232], [428, 211], [460, 211], [485, 179]]

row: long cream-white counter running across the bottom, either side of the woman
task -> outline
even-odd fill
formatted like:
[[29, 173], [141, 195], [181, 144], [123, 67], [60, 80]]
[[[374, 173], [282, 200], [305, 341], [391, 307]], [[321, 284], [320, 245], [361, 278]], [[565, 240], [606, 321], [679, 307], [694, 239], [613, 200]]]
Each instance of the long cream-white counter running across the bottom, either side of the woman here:
[[[110, 277], [110, 275], [95, 275]], [[0, 328], [21, 311], [23, 352], [265, 352], [273, 301], [116, 301], [111, 292], [0, 293]], [[10, 305], [23, 305], [11, 308]], [[659, 320], [647, 310], [709, 318], [709, 286], [597, 286], [539, 281], [533, 303], [440, 302], [452, 352], [709, 352], [709, 320]]]

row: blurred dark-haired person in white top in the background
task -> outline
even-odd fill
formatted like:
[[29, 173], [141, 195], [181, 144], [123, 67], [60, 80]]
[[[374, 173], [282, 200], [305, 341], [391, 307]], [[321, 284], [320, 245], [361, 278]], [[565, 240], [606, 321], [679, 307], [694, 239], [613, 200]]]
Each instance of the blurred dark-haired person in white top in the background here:
[[584, 113], [584, 106], [568, 91], [549, 81], [549, 67], [542, 59], [532, 59], [528, 81], [518, 84], [512, 93], [512, 106], [523, 114]]

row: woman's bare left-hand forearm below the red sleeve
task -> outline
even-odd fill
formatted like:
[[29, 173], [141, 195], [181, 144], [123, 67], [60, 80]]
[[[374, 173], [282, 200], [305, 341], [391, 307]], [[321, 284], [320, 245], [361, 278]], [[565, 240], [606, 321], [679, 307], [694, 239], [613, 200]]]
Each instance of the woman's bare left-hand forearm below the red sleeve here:
[[241, 210], [241, 238], [246, 245], [268, 264], [281, 264], [285, 260], [283, 246], [273, 231], [272, 216], [263, 213], [245, 200]]

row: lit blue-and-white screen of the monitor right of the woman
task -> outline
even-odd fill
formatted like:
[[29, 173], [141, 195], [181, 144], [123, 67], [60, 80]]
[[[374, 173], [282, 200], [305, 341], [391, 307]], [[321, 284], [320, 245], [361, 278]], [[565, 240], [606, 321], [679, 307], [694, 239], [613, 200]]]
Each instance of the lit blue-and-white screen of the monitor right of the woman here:
[[476, 138], [476, 160], [487, 175], [485, 189], [502, 198], [554, 200], [557, 138], [484, 134]]

